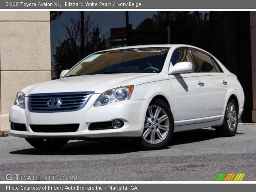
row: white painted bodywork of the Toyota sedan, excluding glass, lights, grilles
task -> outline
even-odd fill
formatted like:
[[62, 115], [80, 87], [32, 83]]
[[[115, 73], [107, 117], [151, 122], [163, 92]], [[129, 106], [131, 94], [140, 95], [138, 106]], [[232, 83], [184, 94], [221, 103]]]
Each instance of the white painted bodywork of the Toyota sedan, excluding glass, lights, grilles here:
[[[10, 130], [18, 137], [138, 137], [144, 129], [144, 119], [150, 101], [155, 96], [167, 100], [174, 116], [174, 132], [219, 126], [224, 119], [224, 111], [230, 96], [238, 100], [238, 118], [243, 112], [244, 92], [236, 76], [230, 73], [210, 53], [188, 45], [144, 45], [124, 48], [170, 47], [160, 73], [98, 74], [63, 77], [49, 82], [28, 86], [21, 91], [26, 96], [25, 109], [13, 105], [10, 110], [10, 122], [26, 124], [27, 131]], [[184, 73], [168, 74], [173, 66], [170, 62], [176, 48], [196, 48], [210, 54], [220, 65], [222, 73]], [[115, 50], [115, 49], [110, 49]], [[224, 85], [222, 82], [227, 81]], [[204, 86], [198, 86], [204, 82]], [[113, 102], [106, 106], [94, 106], [101, 93], [120, 86], [134, 85], [129, 100]], [[187, 87], [187, 88], [186, 88]], [[86, 105], [74, 112], [36, 113], [28, 110], [28, 96], [40, 93], [92, 91]], [[104, 122], [120, 119], [124, 126], [119, 129], [88, 130], [92, 122]], [[76, 132], [42, 133], [33, 132], [30, 124], [80, 124]]]

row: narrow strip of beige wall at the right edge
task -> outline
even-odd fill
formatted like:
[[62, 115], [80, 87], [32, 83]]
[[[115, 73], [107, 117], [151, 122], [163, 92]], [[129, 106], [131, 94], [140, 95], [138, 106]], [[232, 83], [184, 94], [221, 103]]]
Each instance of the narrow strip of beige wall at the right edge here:
[[250, 12], [251, 49], [252, 49], [252, 122], [256, 123], [256, 11]]

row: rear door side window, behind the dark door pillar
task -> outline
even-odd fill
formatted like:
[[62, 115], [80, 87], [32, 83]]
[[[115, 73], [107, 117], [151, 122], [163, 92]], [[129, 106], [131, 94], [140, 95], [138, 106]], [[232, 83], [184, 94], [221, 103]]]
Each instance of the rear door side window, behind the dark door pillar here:
[[199, 72], [218, 72], [216, 69], [216, 64], [213, 63], [212, 58], [204, 54], [201, 51], [192, 50], [196, 62], [198, 64]]

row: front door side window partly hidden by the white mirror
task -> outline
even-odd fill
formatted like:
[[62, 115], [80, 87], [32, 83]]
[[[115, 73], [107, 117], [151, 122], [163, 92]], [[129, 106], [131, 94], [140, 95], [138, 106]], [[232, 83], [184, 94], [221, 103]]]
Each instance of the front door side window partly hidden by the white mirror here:
[[190, 53], [190, 50], [185, 49], [177, 49], [175, 50], [174, 54], [172, 55], [172, 65], [174, 66], [176, 63], [179, 62], [191, 62], [192, 63], [192, 72], [198, 72], [198, 69], [196, 67], [196, 62], [194, 61], [194, 58], [192, 54]]

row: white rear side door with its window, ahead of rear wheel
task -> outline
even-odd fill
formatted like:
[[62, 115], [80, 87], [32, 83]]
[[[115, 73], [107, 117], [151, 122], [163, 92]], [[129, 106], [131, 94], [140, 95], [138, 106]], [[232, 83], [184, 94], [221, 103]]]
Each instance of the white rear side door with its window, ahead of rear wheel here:
[[228, 81], [218, 63], [209, 54], [192, 49], [198, 70], [204, 74], [207, 98], [207, 116], [222, 115], [228, 94]]

